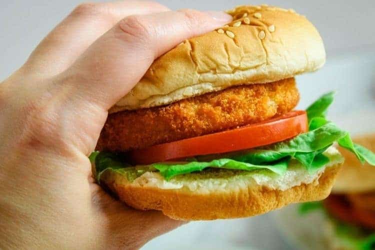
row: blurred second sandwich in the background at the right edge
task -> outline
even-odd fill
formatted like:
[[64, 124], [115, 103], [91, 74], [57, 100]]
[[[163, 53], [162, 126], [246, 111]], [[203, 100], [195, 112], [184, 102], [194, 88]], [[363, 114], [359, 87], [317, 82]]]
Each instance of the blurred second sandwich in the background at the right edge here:
[[[375, 150], [375, 134], [355, 139]], [[342, 151], [345, 164], [332, 194], [323, 201], [325, 237], [331, 249], [375, 249], [375, 168], [358, 166], [355, 157]]]

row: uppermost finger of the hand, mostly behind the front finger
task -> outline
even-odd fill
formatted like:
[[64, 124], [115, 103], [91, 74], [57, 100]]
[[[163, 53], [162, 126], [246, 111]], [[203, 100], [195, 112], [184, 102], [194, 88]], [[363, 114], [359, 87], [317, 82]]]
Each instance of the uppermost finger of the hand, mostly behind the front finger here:
[[28, 59], [26, 69], [47, 76], [60, 73], [125, 16], [167, 10], [152, 1], [80, 4], [40, 42]]

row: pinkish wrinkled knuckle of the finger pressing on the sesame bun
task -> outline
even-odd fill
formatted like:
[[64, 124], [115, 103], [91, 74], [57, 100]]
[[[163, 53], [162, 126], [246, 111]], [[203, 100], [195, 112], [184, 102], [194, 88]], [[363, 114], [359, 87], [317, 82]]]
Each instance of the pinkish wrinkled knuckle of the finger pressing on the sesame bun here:
[[146, 42], [152, 37], [152, 27], [147, 20], [140, 15], [128, 16], [122, 19], [118, 26], [122, 34], [135, 40]]

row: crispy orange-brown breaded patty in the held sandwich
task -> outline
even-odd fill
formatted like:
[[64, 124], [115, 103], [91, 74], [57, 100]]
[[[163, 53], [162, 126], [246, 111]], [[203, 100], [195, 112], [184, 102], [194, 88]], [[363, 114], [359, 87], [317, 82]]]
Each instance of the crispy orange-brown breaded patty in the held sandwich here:
[[112, 113], [96, 150], [123, 152], [251, 124], [290, 111], [298, 100], [295, 80], [288, 78]]

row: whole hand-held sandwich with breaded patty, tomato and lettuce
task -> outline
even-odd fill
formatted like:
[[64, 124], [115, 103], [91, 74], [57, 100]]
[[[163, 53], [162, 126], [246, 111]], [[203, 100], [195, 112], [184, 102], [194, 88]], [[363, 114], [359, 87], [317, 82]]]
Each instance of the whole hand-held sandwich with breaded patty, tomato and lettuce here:
[[92, 173], [136, 209], [181, 220], [258, 215], [325, 198], [343, 157], [374, 154], [325, 118], [333, 93], [294, 110], [295, 75], [325, 62], [316, 28], [292, 9], [227, 11], [233, 21], [157, 58], [109, 110]]

